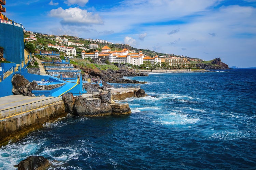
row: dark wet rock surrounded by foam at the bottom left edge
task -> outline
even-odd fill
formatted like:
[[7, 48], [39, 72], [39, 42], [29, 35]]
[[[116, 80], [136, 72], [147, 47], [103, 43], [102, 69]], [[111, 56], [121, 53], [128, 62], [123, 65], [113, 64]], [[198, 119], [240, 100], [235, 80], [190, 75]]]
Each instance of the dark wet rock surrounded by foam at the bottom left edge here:
[[18, 170], [38, 170], [47, 169], [50, 165], [49, 160], [43, 156], [29, 156], [15, 167], [18, 167]]

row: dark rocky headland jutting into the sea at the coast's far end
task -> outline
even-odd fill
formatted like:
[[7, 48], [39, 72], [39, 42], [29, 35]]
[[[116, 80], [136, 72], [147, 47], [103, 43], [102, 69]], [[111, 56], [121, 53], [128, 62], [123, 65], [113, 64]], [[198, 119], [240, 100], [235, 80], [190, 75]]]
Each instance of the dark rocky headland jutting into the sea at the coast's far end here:
[[208, 63], [197, 63], [196, 67], [205, 70], [225, 70], [229, 69], [228, 65], [221, 61], [221, 58], [215, 58], [211, 62]]

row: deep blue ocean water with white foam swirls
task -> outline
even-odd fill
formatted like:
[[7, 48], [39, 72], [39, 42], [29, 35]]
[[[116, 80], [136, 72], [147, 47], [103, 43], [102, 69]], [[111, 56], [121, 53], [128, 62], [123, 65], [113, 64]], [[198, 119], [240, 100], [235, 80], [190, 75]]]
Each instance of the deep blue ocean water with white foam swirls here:
[[0, 169], [30, 155], [59, 170], [256, 168], [256, 69], [130, 79], [148, 82], [132, 114], [48, 123], [2, 147]]

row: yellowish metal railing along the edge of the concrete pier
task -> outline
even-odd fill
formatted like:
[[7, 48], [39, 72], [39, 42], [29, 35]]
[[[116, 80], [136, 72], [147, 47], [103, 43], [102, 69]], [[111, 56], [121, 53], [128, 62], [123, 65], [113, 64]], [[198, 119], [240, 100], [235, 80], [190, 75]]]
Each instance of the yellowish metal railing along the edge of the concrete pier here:
[[47, 105], [51, 105], [51, 104], [57, 103], [61, 100], [62, 100], [62, 97], [59, 96], [59, 97], [45, 99], [45, 100], [41, 100], [41, 101], [29, 103], [29, 104], [16, 106], [16, 107], [2, 109], [2, 110], [0, 110], [0, 120], [2, 120], [4, 118], [7, 118], [7, 117], [15, 116], [17, 114], [29, 112], [33, 109], [37, 109], [37, 108], [41, 108], [41, 107], [44, 107], [44, 106], [47, 106]]

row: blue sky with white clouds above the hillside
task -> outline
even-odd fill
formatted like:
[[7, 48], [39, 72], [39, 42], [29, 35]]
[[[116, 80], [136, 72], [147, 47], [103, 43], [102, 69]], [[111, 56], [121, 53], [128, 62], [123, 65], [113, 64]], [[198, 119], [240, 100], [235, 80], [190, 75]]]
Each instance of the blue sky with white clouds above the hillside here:
[[6, 0], [27, 31], [256, 66], [256, 0]]

